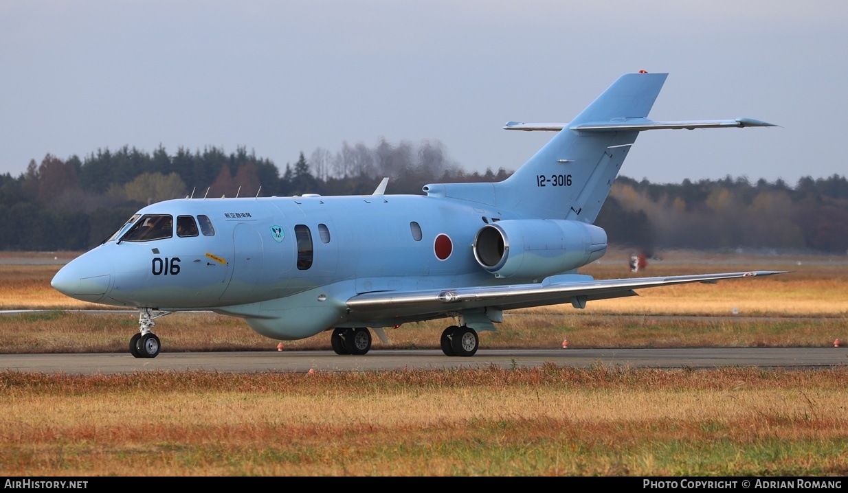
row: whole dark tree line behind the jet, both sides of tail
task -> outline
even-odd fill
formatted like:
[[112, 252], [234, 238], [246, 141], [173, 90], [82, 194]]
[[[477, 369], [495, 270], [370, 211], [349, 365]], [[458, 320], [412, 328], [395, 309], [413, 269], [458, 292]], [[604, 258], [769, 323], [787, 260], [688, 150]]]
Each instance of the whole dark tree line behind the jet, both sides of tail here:
[[[0, 249], [86, 250], [139, 208], [178, 197], [287, 197], [370, 194], [382, 177], [388, 193], [421, 194], [433, 182], [505, 180], [510, 171], [466, 173], [439, 141], [374, 147], [319, 147], [282, 170], [238, 147], [191, 152], [164, 147], [98, 149], [83, 158], [47, 154], [20, 176], [0, 174]], [[596, 224], [611, 243], [644, 252], [662, 248], [782, 248], [848, 251], [848, 180], [804, 177], [752, 183], [746, 177], [653, 184], [619, 176]]]

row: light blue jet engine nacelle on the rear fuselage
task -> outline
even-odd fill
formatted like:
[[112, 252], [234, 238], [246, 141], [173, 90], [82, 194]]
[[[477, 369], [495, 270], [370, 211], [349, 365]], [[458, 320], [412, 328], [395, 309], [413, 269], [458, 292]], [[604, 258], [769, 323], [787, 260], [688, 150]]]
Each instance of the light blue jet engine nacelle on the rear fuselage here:
[[540, 280], [577, 269], [606, 252], [606, 232], [564, 219], [510, 219], [486, 224], [474, 258], [495, 277]]

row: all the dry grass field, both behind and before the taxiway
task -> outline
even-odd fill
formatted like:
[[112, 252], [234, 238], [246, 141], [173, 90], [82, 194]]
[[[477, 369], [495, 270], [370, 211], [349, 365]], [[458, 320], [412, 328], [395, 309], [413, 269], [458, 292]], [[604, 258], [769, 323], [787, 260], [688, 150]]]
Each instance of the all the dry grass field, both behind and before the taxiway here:
[[[4, 255], [6, 256], [4, 258]], [[53, 254], [50, 254], [53, 255]], [[11, 254], [0, 254], [0, 263]], [[39, 260], [40, 258], [36, 258]], [[627, 277], [627, 252], [583, 274]], [[49, 287], [59, 265], [0, 265], [0, 352], [126, 352], [134, 313]], [[789, 274], [509, 313], [483, 347], [832, 346], [848, 340], [848, 259], [670, 252], [639, 275]], [[239, 319], [158, 319], [165, 351], [273, 351]], [[444, 321], [387, 330], [438, 347]], [[375, 338], [374, 349], [382, 345]], [[329, 337], [286, 349], [329, 349]], [[0, 356], [2, 357], [2, 356]], [[542, 368], [316, 374], [0, 373], [0, 472], [95, 475], [848, 474], [848, 367]]]

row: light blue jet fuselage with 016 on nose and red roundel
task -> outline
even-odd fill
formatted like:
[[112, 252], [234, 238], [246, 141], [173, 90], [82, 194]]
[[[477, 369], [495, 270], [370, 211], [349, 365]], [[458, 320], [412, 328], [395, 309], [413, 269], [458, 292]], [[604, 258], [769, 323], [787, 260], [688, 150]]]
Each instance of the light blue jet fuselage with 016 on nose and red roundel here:
[[[278, 338], [282, 325], [290, 338], [383, 326], [393, 321], [356, 319], [344, 303], [365, 292], [506, 284], [481, 267], [472, 244], [483, 226], [509, 219], [518, 218], [444, 197], [170, 200], [139, 210], [52, 284], [89, 302], [232, 314]], [[165, 230], [147, 235], [146, 223]], [[572, 267], [586, 260], [572, 255]]]

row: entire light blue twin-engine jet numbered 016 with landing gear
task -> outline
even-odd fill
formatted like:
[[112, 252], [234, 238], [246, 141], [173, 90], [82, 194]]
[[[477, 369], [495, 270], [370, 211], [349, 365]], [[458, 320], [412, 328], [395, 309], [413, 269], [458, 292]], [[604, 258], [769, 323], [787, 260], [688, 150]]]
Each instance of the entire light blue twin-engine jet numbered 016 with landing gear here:
[[635, 296], [633, 290], [772, 271], [593, 280], [592, 223], [642, 130], [774, 126], [755, 119], [652, 121], [667, 74], [623, 75], [567, 124], [510, 122], [555, 136], [499, 183], [424, 186], [426, 196], [187, 198], [134, 214], [68, 263], [52, 285], [86, 302], [137, 307], [135, 357], [156, 357], [153, 319], [211, 310], [272, 339], [330, 331], [338, 354], [365, 354], [371, 331], [428, 319], [448, 356], [477, 352], [505, 310]]

